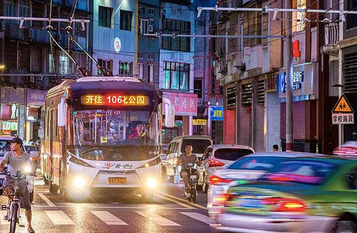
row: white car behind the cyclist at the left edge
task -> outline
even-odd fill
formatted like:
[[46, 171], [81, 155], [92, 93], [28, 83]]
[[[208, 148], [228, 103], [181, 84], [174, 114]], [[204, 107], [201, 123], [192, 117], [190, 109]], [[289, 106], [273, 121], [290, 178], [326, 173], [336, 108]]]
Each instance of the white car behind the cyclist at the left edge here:
[[[12, 136], [0, 136], [0, 160], [3, 160], [3, 157], [6, 152], [10, 151], [10, 141], [14, 137]], [[26, 151], [25, 146], [22, 144], [22, 151]], [[7, 166], [5, 166], [7, 167]], [[3, 194], [3, 181], [5, 179], [5, 175], [0, 175], [0, 195]], [[30, 202], [33, 200], [33, 182], [34, 176], [26, 176], [27, 180], [27, 189], [30, 193]]]

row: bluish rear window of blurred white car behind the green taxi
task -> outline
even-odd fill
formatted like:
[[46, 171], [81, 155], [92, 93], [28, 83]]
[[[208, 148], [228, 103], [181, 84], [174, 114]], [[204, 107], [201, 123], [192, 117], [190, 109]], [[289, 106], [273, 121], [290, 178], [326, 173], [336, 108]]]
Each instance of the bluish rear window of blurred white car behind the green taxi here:
[[245, 157], [231, 164], [228, 169], [235, 170], [253, 170], [253, 171], [269, 171], [275, 165], [286, 161], [288, 158], [283, 157]]

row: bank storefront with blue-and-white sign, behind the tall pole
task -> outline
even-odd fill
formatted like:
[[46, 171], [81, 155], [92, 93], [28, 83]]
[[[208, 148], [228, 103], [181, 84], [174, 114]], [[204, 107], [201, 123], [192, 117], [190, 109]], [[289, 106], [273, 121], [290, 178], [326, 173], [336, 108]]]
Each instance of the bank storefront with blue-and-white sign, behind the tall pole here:
[[[294, 94], [294, 150], [318, 151], [318, 63], [309, 62], [293, 67]], [[286, 78], [285, 68], [279, 70], [278, 89], [280, 102], [280, 139], [285, 150], [286, 136]]]

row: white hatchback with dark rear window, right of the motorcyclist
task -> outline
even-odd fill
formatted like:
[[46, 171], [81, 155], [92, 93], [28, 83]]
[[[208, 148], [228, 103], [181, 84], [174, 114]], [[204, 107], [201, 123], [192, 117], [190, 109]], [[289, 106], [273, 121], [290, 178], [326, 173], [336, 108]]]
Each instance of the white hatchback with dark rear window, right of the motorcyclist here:
[[254, 149], [244, 145], [210, 145], [203, 153], [202, 165], [197, 167], [200, 172], [200, 180], [198, 185], [202, 186], [202, 190], [207, 192], [208, 178], [217, 170], [224, 169], [237, 159], [254, 153]]

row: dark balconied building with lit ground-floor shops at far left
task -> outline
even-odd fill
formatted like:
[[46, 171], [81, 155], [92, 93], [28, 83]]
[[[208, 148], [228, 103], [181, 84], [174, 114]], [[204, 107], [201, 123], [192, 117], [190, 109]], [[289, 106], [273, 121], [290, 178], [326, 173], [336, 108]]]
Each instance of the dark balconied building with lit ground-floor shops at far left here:
[[[75, 1], [53, 0], [52, 18], [68, 18]], [[48, 1], [6, 0], [0, 3], [1, 16], [50, 17]], [[78, 1], [75, 18], [88, 19], [88, 2]], [[74, 63], [53, 43], [46, 31], [46, 21], [2, 20], [0, 31], [0, 134], [18, 135], [24, 140], [40, 136], [41, 106], [46, 90], [61, 83], [62, 79], [80, 76]], [[67, 22], [51, 22], [54, 40], [78, 62], [88, 69], [86, 55], [69, 40]], [[70, 32], [79, 44], [88, 48], [87, 32], [81, 24], [73, 23]]]

